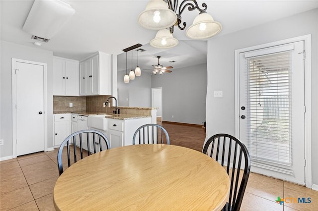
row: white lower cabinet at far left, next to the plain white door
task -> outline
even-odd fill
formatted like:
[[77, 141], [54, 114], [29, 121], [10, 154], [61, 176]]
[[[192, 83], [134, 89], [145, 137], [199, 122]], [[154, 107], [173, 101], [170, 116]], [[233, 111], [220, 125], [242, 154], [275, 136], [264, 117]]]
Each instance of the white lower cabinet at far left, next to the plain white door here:
[[54, 146], [59, 147], [71, 134], [71, 114], [54, 114]]

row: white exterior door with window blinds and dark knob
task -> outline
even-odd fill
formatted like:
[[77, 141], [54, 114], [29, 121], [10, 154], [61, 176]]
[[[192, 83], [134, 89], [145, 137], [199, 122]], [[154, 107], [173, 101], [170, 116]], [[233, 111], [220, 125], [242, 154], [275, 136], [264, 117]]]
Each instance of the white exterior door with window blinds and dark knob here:
[[305, 184], [304, 41], [239, 53], [239, 138], [251, 171]]

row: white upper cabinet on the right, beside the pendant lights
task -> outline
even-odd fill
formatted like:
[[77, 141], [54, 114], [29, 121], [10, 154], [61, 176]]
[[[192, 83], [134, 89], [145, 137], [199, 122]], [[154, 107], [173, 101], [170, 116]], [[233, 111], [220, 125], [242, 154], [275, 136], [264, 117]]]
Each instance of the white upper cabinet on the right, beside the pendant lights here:
[[79, 63], [79, 95], [111, 95], [110, 55], [98, 52]]

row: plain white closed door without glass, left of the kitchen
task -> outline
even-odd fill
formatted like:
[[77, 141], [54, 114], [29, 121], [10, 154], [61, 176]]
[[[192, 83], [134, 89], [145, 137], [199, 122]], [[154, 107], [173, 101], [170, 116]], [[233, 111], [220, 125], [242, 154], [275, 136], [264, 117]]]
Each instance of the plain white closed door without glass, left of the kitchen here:
[[44, 151], [44, 66], [15, 62], [16, 155]]

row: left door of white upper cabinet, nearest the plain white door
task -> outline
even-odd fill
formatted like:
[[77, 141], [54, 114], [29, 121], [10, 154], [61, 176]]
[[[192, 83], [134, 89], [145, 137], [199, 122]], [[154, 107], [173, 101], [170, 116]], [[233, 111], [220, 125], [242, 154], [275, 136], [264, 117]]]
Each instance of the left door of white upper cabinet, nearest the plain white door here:
[[65, 59], [53, 58], [53, 95], [65, 95], [65, 63]]

